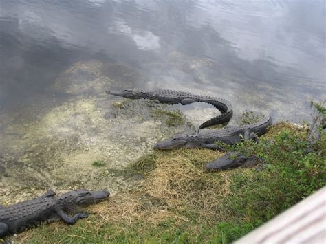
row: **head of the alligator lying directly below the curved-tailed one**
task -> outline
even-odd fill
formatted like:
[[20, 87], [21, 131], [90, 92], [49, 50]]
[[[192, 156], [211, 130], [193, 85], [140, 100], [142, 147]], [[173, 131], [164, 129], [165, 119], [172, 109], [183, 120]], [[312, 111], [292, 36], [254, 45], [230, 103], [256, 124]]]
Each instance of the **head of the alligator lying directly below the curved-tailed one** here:
[[168, 149], [178, 149], [178, 148], [197, 148], [199, 146], [199, 141], [197, 139], [197, 134], [183, 134], [175, 135], [172, 138], [164, 140], [163, 142], [158, 142], [154, 145], [155, 149], [168, 150]]

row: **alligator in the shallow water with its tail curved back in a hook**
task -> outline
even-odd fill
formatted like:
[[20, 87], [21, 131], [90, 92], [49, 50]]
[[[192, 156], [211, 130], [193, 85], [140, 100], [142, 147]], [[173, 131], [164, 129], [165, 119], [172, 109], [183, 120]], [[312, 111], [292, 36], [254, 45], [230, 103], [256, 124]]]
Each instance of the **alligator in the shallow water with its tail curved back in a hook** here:
[[193, 102], [205, 102], [216, 107], [221, 115], [217, 115], [210, 120], [207, 120], [199, 126], [200, 129], [204, 129], [208, 126], [215, 124], [228, 123], [233, 115], [232, 105], [230, 102], [223, 98], [214, 98], [211, 96], [195, 95], [184, 91], [172, 91], [172, 90], [157, 90], [157, 91], [142, 91], [125, 89], [123, 91], [106, 91], [106, 93], [122, 96], [129, 99], [150, 99], [164, 104], [182, 104], [187, 105]]

